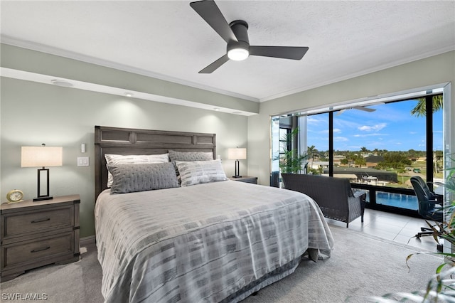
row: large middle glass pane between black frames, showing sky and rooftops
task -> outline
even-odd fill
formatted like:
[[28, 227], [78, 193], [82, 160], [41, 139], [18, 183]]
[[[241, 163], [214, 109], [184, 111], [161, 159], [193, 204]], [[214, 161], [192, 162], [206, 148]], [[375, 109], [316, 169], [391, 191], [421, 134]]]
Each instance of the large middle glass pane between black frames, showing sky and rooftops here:
[[419, 100], [354, 107], [333, 115], [333, 171], [351, 181], [412, 188], [426, 176], [426, 119], [412, 115]]

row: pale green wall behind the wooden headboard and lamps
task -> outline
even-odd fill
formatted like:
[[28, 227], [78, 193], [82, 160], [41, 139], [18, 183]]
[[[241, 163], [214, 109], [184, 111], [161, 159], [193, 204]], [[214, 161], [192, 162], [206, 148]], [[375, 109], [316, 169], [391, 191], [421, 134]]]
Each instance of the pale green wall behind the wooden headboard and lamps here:
[[[58, 67], [52, 68], [52, 73], [41, 70], [43, 54], [35, 54], [36, 60], [24, 58], [29, 65], [12, 64], [9, 59], [19, 61], [18, 55], [28, 54], [20, 51], [6, 55], [1, 53], [1, 65], [23, 70], [34, 69], [35, 72], [52, 75], [65, 66], [74, 67], [74, 62], [65, 65], [65, 60], [55, 56]], [[44, 55], [50, 56], [50, 55]], [[11, 60], [12, 60], [11, 59]], [[52, 64], [50, 58], [46, 58]], [[73, 60], [71, 60], [73, 61]], [[87, 78], [103, 78], [106, 70], [100, 67], [81, 63], [87, 69]], [[81, 67], [80, 67], [81, 69]], [[50, 69], [51, 70], [51, 69]], [[77, 73], [84, 74], [80, 72]], [[115, 73], [121, 73], [116, 71]], [[72, 78], [66, 75], [66, 78]], [[124, 73], [125, 83], [132, 83], [137, 76]], [[140, 76], [141, 78], [143, 76]], [[78, 80], [83, 80], [79, 78]], [[146, 79], [143, 86], [136, 90], [147, 90]], [[103, 81], [105, 85], [119, 81]], [[223, 166], [228, 176], [234, 174], [234, 161], [228, 160], [227, 149], [230, 147], [247, 146], [247, 117], [223, 112], [200, 110], [193, 107], [168, 105], [161, 102], [139, 100], [100, 92], [77, 90], [74, 88], [58, 87], [13, 78], [0, 78], [0, 201], [6, 201], [6, 193], [19, 188], [24, 191], [25, 198], [36, 196], [37, 179], [35, 168], [21, 168], [21, 146], [63, 147], [63, 166], [50, 168], [50, 194], [62, 196], [79, 193], [80, 205], [80, 235], [82, 238], [94, 235], [93, 209], [95, 206], [95, 166], [94, 164], [94, 127], [95, 125], [109, 127], [131, 127], [139, 129], [164, 129], [183, 132], [208, 132], [217, 134], [217, 154], [223, 159]], [[136, 83], [138, 85], [138, 83]], [[171, 85], [167, 83], [166, 85]], [[191, 90], [182, 85], [168, 88], [170, 95], [179, 95], [182, 90]], [[195, 90], [193, 95], [201, 95], [207, 102], [214, 100], [220, 106], [228, 105], [232, 99], [214, 92]], [[221, 102], [221, 103], [219, 103]], [[250, 102], [250, 101], [247, 101]], [[257, 105], [256, 102], [252, 102]], [[249, 103], [247, 103], [249, 104]], [[241, 110], [241, 108], [239, 108]], [[80, 144], [86, 144], [86, 152], [80, 152]], [[89, 156], [90, 166], [78, 167], [77, 156]], [[242, 161], [240, 171], [247, 171], [247, 162]]]

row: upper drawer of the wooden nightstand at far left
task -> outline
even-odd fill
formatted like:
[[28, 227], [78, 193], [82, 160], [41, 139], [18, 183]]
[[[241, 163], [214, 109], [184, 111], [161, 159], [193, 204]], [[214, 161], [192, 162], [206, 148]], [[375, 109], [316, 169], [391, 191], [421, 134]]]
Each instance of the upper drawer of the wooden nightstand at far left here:
[[49, 228], [73, 226], [73, 206], [52, 208], [43, 211], [31, 211], [4, 217], [3, 237], [9, 238], [23, 233], [41, 233]]

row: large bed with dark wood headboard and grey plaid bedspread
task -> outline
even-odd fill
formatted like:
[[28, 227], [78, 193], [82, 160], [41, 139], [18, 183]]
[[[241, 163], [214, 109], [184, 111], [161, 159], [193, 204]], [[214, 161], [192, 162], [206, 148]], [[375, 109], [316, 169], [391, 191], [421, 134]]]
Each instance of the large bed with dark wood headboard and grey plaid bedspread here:
[[[95, 229], [105, 302], [239, 302], [290, 275], [302, 255], [330, 257], [333, 238], [319, 206], [303, 193], [228, 180], [215, 139], [95, 127]], [[112, 154], [168, 154], [172, 166], [111, 164]]]

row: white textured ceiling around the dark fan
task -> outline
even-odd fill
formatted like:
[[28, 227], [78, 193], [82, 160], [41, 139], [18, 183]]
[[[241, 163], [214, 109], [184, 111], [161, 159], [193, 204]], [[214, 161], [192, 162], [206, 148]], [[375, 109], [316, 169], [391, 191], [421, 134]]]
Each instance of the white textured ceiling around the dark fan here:
[[198, 74], [225, 41], [191, 1], [1, 1], [1, 41], [264, 101], [455, 49], [455, 1], [216, 1], [251, 45], [308, 46]]

